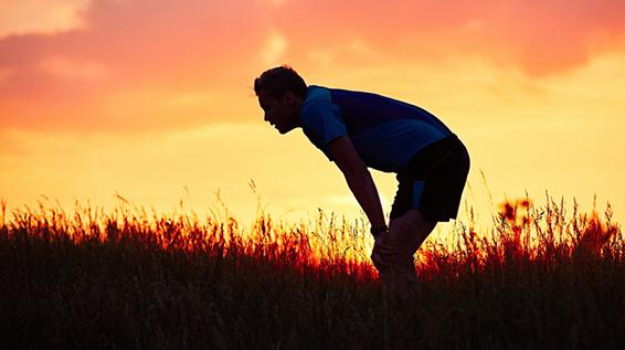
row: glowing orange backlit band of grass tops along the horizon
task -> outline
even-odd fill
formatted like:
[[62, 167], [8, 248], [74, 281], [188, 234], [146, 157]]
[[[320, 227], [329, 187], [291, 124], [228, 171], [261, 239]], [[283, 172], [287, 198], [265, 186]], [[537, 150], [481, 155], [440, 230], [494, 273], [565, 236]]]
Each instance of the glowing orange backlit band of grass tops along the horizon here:
[[[275, 221], [258, 208], [256, 220], [246, 229], [221, 202], [202, 216], [187, 210], [182, 200], [176, 212], [162, 214], [117, 197], [119, 205], [108, 213], [80, 202], [67, 213], [42, 197], [39, 208], [24, 206], [7, 214], [3, 201], [1, 227], [9, 235], [70, 240], [77, 245], [127, 241], [184, 254], [234, 254], [295, 269], [338, 268], [360, 278], [375, 276], [369, 259], [373, 240], [364, 219], [348, 221], [319, 210], [317, 218], [293, 224]], [[442, 264], [469, 264], [479, 269], [507, 259], [549, 264], [582, 255], [625, 254], [623, 234], [612, 222], [610, 205], [603, 219], [596, 205], [591, 214], [580, 213], [578, 208], [574, 203], [569, 215], [563, 201], [557, 203], [549, 197], [543, 208], [534, 208], [530, 199], [508, 201], [494, 215], [492, 227], [480, 232], [469, 215], [468, 222], [456, 222], [428, 237], [415, 256], [417, 271], [432, 276], [439, 273]]]

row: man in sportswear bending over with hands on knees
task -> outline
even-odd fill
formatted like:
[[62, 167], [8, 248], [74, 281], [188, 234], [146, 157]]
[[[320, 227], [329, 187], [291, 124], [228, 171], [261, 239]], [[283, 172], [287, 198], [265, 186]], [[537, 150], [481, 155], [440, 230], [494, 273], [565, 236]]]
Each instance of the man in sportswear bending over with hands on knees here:
[[[254, 82], [265, 120], [280, 134], [301, 127], [343, 173], [371, 223], [371, 258], [386, 293], [405, 296], [416, 282], [413, 255], [437, 222], [455, 219], [469, 158], [458, 138], [428, 112], [384, 96], [307, 86], [290, 67]], [[386, 226], [368, 170], [398, 174]]]

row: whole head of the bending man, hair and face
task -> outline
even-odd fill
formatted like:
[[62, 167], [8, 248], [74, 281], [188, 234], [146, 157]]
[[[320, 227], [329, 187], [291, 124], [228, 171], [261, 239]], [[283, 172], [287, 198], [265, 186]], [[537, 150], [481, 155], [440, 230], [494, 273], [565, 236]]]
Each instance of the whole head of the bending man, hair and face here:
[[254, 92], [265, 120], [286, 134], [300, 126], [299, 109], [308, 87], [292, 67], [280, 66], [268, 70], [254, 81]]

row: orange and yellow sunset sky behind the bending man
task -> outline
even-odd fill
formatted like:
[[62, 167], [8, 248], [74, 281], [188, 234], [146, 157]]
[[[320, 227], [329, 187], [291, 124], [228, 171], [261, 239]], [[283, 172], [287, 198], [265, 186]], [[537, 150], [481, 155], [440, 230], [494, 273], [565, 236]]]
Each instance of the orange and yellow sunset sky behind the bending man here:
[[[623, 222], [623, 18], [619, 0], [0, 0], [0, 198], [361, 218], [300, 129], [263, 121], [253, 81], [288, 64], [447, 124], [472, 157], [462, 218], [549, 193]], [[389, 211], [395, 179], [372, 173]]]

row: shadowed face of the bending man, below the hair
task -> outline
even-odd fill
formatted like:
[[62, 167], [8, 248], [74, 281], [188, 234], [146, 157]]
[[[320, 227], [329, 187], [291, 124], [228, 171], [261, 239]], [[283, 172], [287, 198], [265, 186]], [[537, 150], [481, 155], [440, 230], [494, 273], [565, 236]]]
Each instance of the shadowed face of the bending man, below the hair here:
[[287, 92], [276, 98], [261, 92], [258, 103], [265, 112], [265, 121], [274, 126], [280, 134], [286, 134], [299, 126], [299, 104], [293, 93]]

